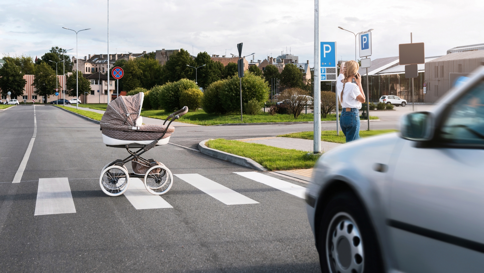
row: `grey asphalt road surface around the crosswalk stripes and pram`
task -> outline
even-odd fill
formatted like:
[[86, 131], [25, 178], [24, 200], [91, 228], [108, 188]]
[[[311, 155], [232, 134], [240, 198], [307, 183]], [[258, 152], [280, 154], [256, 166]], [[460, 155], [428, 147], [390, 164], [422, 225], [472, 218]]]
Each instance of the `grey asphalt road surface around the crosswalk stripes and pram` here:
[[[102, 167], [127, 152], [106, 147], [97, 124], [50, 105], [35, 109], [37, 135], [20, 183], [11, 182], [32, 138], [33, 106], [0, 112], [1, 272], [320, 272], [304, 200], [234, 174], [253, 170], [157, 146], [146, 157], [173, 174], [199, 174], [258, 203], [229, 206], [174, 177], [163, 195], [173, 208], [135, 209], [99, 186]], [[185, 127], [171, 141], [196, 147], [209, 137], [311, 128]], [[34, 215], [39, 178], [55, 177], [68, 178], [76, 212]]]

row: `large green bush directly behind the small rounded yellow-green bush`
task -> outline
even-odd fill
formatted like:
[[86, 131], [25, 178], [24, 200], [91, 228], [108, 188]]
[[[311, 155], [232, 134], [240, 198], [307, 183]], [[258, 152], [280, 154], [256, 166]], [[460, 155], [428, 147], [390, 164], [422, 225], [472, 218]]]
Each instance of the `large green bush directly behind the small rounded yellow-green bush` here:
[[175, 82], [167, 82], [161, 87], [158, 101], [161, 108], [166, 111], [177, 111], [180, 108], [180, 95], [184, 90], [194, 88], [198, 89], [193, 80], [181, 79]]

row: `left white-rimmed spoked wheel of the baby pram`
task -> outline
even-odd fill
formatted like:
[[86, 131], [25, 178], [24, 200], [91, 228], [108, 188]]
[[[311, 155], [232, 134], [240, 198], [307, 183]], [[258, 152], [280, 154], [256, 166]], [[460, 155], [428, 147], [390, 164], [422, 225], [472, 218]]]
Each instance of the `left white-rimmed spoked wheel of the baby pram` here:
[[120, 166], [109, 166], [101, 173], [99, 185], [101, 190], [109, 196], [121, 195], [129, 186], [128, 171]]

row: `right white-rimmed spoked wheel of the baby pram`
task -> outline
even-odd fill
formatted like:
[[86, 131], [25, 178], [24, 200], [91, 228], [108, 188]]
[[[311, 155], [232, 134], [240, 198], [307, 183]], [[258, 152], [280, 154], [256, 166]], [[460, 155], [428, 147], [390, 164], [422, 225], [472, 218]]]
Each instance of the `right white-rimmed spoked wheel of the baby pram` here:
[[156, 165], [148, 169], [144, 178], [145, 187], [151, 194], [167, 193], [173, 184], [173, 175], [165, 166]]

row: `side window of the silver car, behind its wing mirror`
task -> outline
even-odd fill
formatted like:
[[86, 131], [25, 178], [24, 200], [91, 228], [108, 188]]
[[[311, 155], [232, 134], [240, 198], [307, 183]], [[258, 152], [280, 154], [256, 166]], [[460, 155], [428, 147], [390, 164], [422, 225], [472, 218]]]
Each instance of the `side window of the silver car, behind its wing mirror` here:
[[452, 144], [484, 145], [484, 81], [452, 104], [440, 136]]

